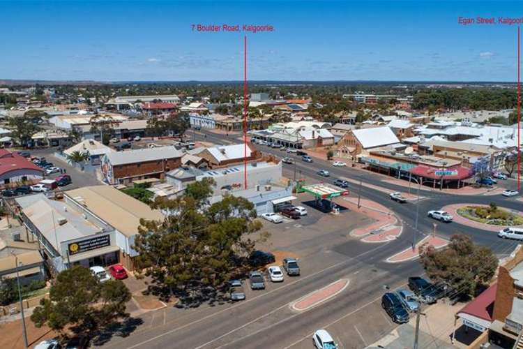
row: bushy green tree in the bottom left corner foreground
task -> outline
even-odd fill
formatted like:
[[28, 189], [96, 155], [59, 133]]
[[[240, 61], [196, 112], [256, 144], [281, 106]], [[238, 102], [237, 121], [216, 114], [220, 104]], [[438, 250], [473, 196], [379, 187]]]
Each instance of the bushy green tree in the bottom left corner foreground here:
[[47, 325], [57, 332], [73, 327], [89, 337], [119, 318], [126, 318], [129, 290], [119, 280], [101, 283], [85, 267], [75, 265], [56, 277], [50, 297], [42, 299], [31, 315], [36, 327]]

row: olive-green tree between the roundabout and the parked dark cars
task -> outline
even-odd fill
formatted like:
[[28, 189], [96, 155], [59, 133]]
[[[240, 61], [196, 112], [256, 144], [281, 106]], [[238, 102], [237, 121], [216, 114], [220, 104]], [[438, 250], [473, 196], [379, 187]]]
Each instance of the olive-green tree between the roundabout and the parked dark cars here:
[[453, 235], [441, 250], [422, 246], [420, 262], [432, 281], [446, 283], [462, 295], [474, 295], [478, 285], [489, 283], [498, 265], [490, 248], [473, 244], [466, 235]]

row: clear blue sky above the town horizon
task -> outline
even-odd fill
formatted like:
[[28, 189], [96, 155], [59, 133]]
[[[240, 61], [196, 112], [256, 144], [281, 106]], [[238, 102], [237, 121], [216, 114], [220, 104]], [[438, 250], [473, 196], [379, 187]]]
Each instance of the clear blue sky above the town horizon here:
[[[519, 1], [13, 1], [0, 3], [0, 79], [515, 81]], [[517, 10], [519, 9], [519, 10]]]

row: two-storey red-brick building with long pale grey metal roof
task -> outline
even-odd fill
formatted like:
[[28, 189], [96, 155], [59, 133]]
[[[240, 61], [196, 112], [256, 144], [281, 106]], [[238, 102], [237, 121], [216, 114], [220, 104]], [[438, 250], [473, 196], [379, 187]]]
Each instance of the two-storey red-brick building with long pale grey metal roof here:
[[175, 147], [110, 152], [102, 158], [108, 184], [130, 184], [135, 179], [159, 178], [181, 165], [183, 153]]

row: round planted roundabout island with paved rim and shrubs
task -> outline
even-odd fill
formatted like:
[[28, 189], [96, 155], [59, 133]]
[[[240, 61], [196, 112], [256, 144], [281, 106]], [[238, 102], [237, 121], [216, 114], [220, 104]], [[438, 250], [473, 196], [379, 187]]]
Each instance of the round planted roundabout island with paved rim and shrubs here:
[[490, 232], [499, 232], [508, 225], [523, 226], [523, 212], [494, 206], [453, 204], [442, 207], [441, 210], [452, 215], [455, 223]]

